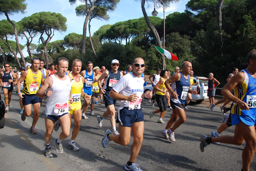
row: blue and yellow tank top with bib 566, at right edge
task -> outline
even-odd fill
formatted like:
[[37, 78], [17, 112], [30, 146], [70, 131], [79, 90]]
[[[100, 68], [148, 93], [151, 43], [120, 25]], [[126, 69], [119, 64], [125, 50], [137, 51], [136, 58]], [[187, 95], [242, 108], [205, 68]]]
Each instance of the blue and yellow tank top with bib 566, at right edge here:
[[253, 78], [245, 69], [241, 71], [244, 72], [244, 81], [234, 88], [234, 94], [237, 98], [247, 103], [250, 110], [241, 110], [237, 103], [233, 103], [231, 114], [256, 115], [256, 78]]

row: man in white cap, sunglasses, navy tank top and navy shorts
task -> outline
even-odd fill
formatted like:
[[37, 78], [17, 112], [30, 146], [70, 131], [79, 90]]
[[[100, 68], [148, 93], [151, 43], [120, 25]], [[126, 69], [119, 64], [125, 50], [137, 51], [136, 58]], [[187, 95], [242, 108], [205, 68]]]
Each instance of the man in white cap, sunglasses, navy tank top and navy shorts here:
[[[123, 74], [120, 71], [118, 71], [118, 68], [119, 68], [119, 61], [116, 59], [112, 60], [111, 69], [108, 71], [105, 71], [98, 79], [99, 90], [104, 96], [105, 107], [107, 107], [107, 111], [105, 111], [102, 116], [97, 116], [98, 126], [99, 128], [101, 128], [103, 118], [110, 115], [110, 123], [113, 129], [114, 135], [119, 135], [118, 131], [116, 131], [116, 121], [115, 121], [116, 99], [114, 99], [113, 97], [110, 97], [109, 93], [111, 89], [116, 85], [116, 83], [118, 83], [119, 79], [123, 76]], [[103, 79], [105, 79], [104, 89], [102, 89], [102, 85], [101, 85], [101, 80]]]

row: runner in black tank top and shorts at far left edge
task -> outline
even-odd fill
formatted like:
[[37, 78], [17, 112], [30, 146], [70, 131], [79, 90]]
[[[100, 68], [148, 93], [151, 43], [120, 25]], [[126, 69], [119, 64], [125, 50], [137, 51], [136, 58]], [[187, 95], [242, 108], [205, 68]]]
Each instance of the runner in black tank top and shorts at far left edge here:
[[9, 63], [5, 63], [3, 66], [5, 68], [5, 71], [1, 73], [0, 83], [4, 94], [4, 102], [6, 103], [5, 111], [7, 112], [10, 109], [13, 86], [15, 85], [15, 82], [13, 82], [13, 80], [15, 80], [16, 75], [13, 71], [9, 70]]

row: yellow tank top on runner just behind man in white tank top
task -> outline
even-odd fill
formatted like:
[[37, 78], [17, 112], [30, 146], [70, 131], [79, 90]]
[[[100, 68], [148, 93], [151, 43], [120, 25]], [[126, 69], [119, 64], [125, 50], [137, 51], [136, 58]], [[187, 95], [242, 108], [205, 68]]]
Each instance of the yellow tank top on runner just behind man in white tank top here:
[[73, 103], [70, 105], [71, 106], [79, 105], [79, 104], [81, 104], [81, 100], [80, 100], [81, 90], [84, 86], [84, 84], [82, 82], [81, 75], [79, 74], [79, 76], [80, 76], [79, 82], [76, 82], [71, 74], [69, 74], [69, 76], [72, 78], [72, 80], [71, 80], [71, 98], [73, 99]]

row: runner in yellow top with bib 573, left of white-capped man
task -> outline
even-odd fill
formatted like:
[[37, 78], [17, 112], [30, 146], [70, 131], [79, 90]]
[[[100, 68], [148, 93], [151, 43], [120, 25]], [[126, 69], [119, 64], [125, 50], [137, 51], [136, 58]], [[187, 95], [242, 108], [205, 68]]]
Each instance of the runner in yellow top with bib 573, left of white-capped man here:
[[90, 105], [91, 111], [90, 115], [95, 116], [93, 112], [94, 105], [98, 103], [98, 97], [99, 97], [99, 84], [98, 79], [100, 77], [99, 75], [99, 66], [96, 66], [93, 68], [93, 71], [95, 72], [95, 78], [93, 79], [93, 94], [92, 94], [92, 102]]

